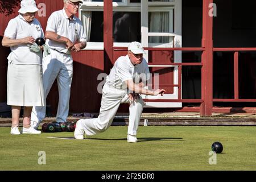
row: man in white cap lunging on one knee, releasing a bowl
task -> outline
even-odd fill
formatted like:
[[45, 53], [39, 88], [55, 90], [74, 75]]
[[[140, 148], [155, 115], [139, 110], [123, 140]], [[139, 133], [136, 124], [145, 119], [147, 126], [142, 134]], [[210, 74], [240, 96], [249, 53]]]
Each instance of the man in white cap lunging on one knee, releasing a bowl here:
[[163, 96], [166, 92], [163, 89], [153, 91], [144, 88], [146, 80], [150, 77], [147, 62], [142, 57], [143, 53], [141, 43], [132, 42], [128, 47], [128, 54], [115, 61], [102, 89], [100, 115], [98, 118], [77, 121], [74, 133], [76, 139], [84, 139], [84, 133], [90, 136], [108, 129], [119, 105], [130, 102], [127, 142], [137, 142], [137, 129], [144, 106], [140, 94]]

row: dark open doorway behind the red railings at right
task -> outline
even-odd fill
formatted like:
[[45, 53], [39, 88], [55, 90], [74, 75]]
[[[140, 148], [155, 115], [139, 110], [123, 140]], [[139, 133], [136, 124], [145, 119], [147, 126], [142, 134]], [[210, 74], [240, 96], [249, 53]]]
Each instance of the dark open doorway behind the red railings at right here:
[[[214, 47], [256, 47], [256, 1], [215, 0]], [[201, 47], [203, 0], [183, 0], [183, 47]], [[213, 98], [234, 98], [234, 52], [214, 52]], [[201, 52], [183, 52], [183, 62], [201, 61]], [[183, 98], [201, 97], [201, 69], [183, 69]], [[256, 52], [239, 53], [239, 97], [256, 98]], [[256, 106], [213, 103], [214, 106]], [[190, 104], [183, 104], [183, 106]]]

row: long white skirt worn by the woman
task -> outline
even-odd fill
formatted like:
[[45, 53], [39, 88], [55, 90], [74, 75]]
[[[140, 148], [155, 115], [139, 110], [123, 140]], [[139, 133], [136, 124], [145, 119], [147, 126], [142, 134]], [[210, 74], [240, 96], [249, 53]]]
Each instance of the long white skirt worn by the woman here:
[[8, 64], [7, 105], [45, 105], [42, 65]]

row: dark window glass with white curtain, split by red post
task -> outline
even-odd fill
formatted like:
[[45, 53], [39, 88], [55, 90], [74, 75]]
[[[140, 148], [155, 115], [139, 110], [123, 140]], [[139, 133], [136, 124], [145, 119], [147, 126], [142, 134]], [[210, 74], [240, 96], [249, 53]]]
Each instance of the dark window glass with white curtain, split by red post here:
[[[83, 12], [82, 23], [88, 42], [103, 42], [102, 11]], [[114, 42], [141, 42], [141, 13], [113, 12], [113, 38]]]

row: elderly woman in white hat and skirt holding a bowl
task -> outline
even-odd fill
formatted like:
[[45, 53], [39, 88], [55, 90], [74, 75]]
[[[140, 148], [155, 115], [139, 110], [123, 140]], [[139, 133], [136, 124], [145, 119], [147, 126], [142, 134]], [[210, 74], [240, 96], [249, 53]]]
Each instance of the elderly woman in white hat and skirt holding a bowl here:
[[42, 47], [32, 51], [28, 46], [35, 45], [36, 38], [44, 38], [43, 29], [37, 19], [39, 11], [34, 0], [20, 2], [19, 15], [11, 19], [5, 30], [2, 45], [11, 48], [8, 56], [7, 105], [11, 105], [11, 134], [20, 131], [19, 115], [23, 106], [23, 128], [21, 133], [40, 134], [30, 126], [33, 106], [44, 106], [45, 98], [42, 77]]

